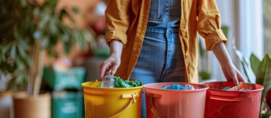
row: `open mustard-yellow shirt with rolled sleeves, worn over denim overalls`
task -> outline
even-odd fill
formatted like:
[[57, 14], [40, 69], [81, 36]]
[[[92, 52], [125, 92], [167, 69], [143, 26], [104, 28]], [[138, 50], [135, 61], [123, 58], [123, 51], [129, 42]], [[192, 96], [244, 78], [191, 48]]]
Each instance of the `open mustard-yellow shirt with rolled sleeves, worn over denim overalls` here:
[[[151, 0], [108, 0], [105, 40], [119, 40], [124, 47], [115, 76], [130, 78], [145, 36]], [[198, 83], [196, 31], [205, 39], [206, 50], [228, 42], [221, 30], [215, 0], [181, 0], [179, 37], [185, 62], [186, 82]], [[150, 49], [152, 50], [152, 49]], [[146, 63], [148, 64], [148, 63]]]

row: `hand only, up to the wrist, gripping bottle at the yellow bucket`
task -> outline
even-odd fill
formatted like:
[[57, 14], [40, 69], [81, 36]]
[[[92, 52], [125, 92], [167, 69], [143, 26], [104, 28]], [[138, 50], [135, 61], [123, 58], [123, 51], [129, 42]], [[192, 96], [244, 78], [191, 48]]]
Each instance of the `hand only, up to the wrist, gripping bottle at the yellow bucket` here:
[[102, 80], [106, 73], [114, 75], [116, 69], [120, 65], [120, 58], [116, 55], [111, 55], [100, 65], [100, 80]]

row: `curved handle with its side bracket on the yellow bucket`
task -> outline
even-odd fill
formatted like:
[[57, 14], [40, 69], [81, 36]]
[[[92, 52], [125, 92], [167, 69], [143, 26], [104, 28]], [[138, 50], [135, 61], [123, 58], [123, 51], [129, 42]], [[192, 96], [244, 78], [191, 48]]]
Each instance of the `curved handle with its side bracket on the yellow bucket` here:
[[127, 93], [127, 94], [122, 94], [122, 98], [133, 98], [130, 102], [130, 104], [125, 108], [123, 109], [122, 111], [120, 111], [119, 113], [117, 113], [116, 115], [112, 116], [112, 117], [108, 117], [108, 118], [116, 118], [118, 117], [119, 115], [121, 115], [123, 112], [125, 112], [127, 109], [129, 109], [129, 107], [132, 105], [132, 103], [136, 103], [136, 99], [139, 97], [139, 94], [138, 93]]

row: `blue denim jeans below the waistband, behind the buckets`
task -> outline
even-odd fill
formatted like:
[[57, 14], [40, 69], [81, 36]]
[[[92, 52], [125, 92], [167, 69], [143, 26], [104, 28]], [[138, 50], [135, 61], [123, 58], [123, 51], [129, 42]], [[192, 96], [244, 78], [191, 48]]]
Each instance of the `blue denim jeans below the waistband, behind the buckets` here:
[[[143, 82], [144, 85], [158, 82], [185, 82], [179, 29], [147, 28], [130, 80]], [[142, 95], [141, 108], [141, 118], [146, 118], [145, 93]]]

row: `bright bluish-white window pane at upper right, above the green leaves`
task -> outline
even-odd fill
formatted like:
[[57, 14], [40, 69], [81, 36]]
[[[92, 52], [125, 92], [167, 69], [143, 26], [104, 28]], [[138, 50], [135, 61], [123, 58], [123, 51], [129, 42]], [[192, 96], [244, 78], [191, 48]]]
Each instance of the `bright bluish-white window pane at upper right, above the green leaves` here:
[[240, 51], [247, 58], [264, 55], [262, 0], [239, 0]]

